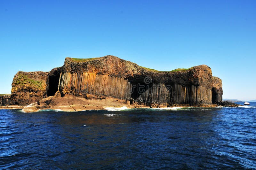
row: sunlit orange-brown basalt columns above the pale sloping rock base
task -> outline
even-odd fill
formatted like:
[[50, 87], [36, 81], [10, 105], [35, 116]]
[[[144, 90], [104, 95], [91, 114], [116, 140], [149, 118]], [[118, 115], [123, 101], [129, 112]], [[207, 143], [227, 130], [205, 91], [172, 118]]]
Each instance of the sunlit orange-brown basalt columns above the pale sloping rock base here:
[[131, 98], [131, 83], [124, 78], [95, 73], [61, 73], [59, 91], [62, 94], [102, 95], [119, 99]]

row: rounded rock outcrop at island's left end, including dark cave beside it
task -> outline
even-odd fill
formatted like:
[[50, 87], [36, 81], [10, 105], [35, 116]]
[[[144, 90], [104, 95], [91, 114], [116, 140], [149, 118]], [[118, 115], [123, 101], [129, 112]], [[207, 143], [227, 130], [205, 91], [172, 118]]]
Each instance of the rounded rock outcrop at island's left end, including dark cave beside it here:
[[[15, 74], [12, 81], [11, 104], [28, 105], [53, 96], [58, 90], [62, 67], [50, 72], [21, 72]], [[55, 90], [55, 91], [54, 91]]]

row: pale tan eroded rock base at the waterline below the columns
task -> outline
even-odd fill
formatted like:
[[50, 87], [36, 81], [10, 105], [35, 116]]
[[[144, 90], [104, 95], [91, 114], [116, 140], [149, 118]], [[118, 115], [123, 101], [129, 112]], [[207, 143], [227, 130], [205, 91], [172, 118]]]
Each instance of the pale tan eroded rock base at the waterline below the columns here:
[[[194, 107], [216, 107], [217, 104], [203, 104]], [[39, 110], [60, 110], [66, 112], [84, 111], [84, 110], [105, 110], [107, 108], [167, 108], [167, 107], [191, 107], [188, 104], [145, 104], [129, 100], [117, 99], [113, 97], [96, 96], [86, 94], [84, 96], [75, 96], [71, 94], [61, 95], [56, 92], [54, 96], [50, 96], [40, 100], [37, 103], [30, 104], [22, 109], [23, 112], [37, 112]]]

